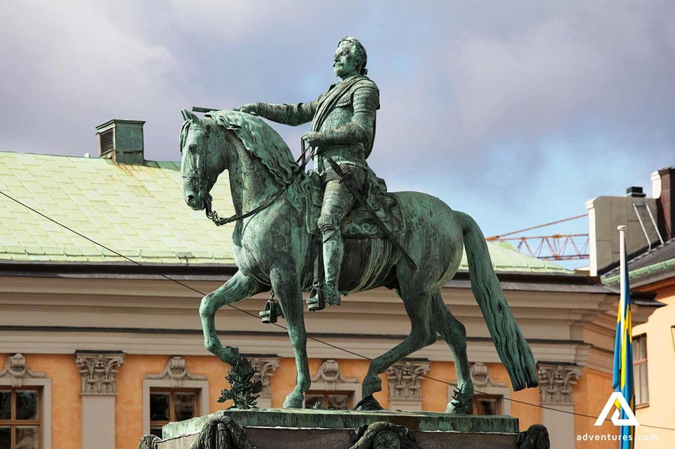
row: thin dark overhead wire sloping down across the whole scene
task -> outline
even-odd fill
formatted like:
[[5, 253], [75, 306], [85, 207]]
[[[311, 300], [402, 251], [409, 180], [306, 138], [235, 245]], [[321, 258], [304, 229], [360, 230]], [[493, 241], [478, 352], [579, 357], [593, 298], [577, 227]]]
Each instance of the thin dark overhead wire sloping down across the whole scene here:
[[[50, 216], [47, 216], [46, 214], [43, 214], [43, 213], [40, 212], [39, 210], [36, 210], [35, 208], [33, 208], [33, 207], [27, 205], [26, 203], [23, 203], [21, 200], [18, 200], [17, 198], [14, 198], [13, 196], [10, 196], [10, 195], [6, 194], [4, 191], [1, 191], [1, 190], [0, 190], [0, 194], [3, 195], [3, 196], [5, 196], [5, 197], [8, 198], [9, 200], [14, 201], [14, 202], [17, 203], [17, 204], [22, 205], [23, 207], [25, 207], [26, 209], [30, 210], [31, 212], [33, 212], [33, 213], [35, 213], [35, 214], [38, 214], [39, 216], [42, 216], [42, 218], [47, 219], [47, 220], [51, 221], [52, 223], [55, 223], [56, 225], [61, 226], [62, 228], [66, 229], [66, 230], [69, 230], [71, 233], [74, 233], [75, 235], [78, 235], [79, 237], [82, 237], [83, 239], [86, 239], [88, 242], [91, 242], [91, 243], [93, 243], [93, 244], [95, 244], [95, 245], [97, 245], [97, 246], [100, 246], [102, 249], [105, 249], [106, 251], [110, 251], [111, 253], [117, 255], [117, 256], [120, 257], [120, 258], [123, 258], [123, 259], [125, 259], [125, 260], [128, 260], [129, 262], [132, 262], [134, 265], [137, 265], [138, 267], [141, 267], [141, 268], [143, 268], [143, 269], [145, 269], [145, 270], [147, 270], [147, 271], [151, 271], [153, 274], [155, 274], [155, 275], [157, 275], [157, 276], [160, 276], [161, 278], [164, 278], [164, 279], [166, 279], [166, 280], [168, 280], [168, 281], [171, 281], [171, 282], [173, 282], [173, 283], [176, 283], [177, 285], [181, 285], [182, 287], [185, 287], [186, 289], [191, 290], [192, 292], [195, 292], [195, 293], [198, 293], [198, 294], [202, 295], [202, 297], [204, 297], [204, 296], [206, 295], [204, 292], [200, 292], [200, 290], [197, 290], [196, 288], [191, 287], [190, 285], [187, 285], [186, 283], [183, 283], [183, 282], [181, 282], [181, 281], [178, 281], [177, 279], [171, 278], [170, 276], [167, 276], [166, 274], [161, 273], [160, 271], [157, 271], [157, 269], [154, 269], [154, 267], [150, 267], [150, 266], [148, 266], [148, 265], [144, 265], [144, 264], [142, 264], [141, 262], [138, 262], [138, 261], [136, 261], [136, 260], [133, 260], [132, 258], [127, 257], [126, 255], [123, 255], [123, 254], [121, 254], [121, 253], [118, 253], [118, 251], [115, 251], [115, 250], [109, 248], [108, 246], [105, 246], [104, 244], [101, 244], [101, 243], [99, 243], [99, 242], [96, 242], [94, 239], [91, 239], [90, 237], [87, 237], [86, 235], [84, 235], [84, 234], [82, 234], [82, 233], [79, 233], [79, 231], [74, 230], [74, 229], [70, 228], [69, 226], [66, 226], [65, 224], [63, 224], [63, 223], [61, 223], [61, 222], [59, 222], [59, 221], [56, 221], [55, 219], [52, 219]], [[576, 217], [574, 217], [574, 218], [576, 218]], [[244, 314], [246, 314], [246, 315], [249, 315], [249, 316], [251, 316], [251, 317], [255, 317], [256, 320], [259, 320], [259, 319], [260, 319], [260, 317], [258, 317], [258, 316], [255, 315], [254, 313], [248, 312], [248, 310], [244, 310], [244, 309], [239, 308], [239, 307], [237, 307], [237, 306], [233, 306], [232, 304], [227, 304], [227, 306], [229, 306], [230, 308], [233, 308], [234, 310], [237, 310], [237, 311], [239, 311], [239, 312], [241, 312], [241, 313], [244, 313]], [[288, 331], [288, 328], [287, 328], [286, 326], [281, 325], [281, 324], [278, 324], [278, 323], [270, 323], [270, 324], [273, 324], [274, 326], [277, 326], [277, 327], [280, 328], [280, 329], [284, 329], [285, 331]], [[368, 361], [372, 361], [372, 360], [373, 360], [373, 359], [371, 359], [371, 358], [368, 357], [368, 356], [364, 356], [364, 355], [362, 355], [362, 354], [358, 354], [358, 353], [356, 353], [356, 352], [353, 352], [353, 351], [351, 351], [351, 350], [349, 350], [349, 349], [345, 349], [345, 348], [343, 348], [343, 347], [339, 347], [339, 346], [337, 346], [337, 345], [333, 345], [333, 343], [326, 342], [325, 340], [321, 340], [321, 339], [319, 339], [319, 338], [312, 337], [310, 334], [307, 334], [307, 338], [308, 338], [309, 340], [312, 340], [312, 341], [315, 341], [315, 342], [317, 342], [317, 343], [320, 343], [321, 345], [326, 345], [326, 346], [328, 346], [328, 347], [332, 347], [333, 349], [337, 349], [337, 350], [342, 351], [342, 352], [345, 352], [345, 353], [347, 353], [347, 354], [351, 354], [351, 355], [353, 355], [353, 356], [359, 357], [360, 359], [365, 359], [365, 360], [368, 360]], [[416, 376], [418, 376], [418, 377], [421, 377], [422, 379], [428, 379], [428, 380], [432, 380], [432, 381], [437, 381], [437, 382], [440, 382], [441, 384], [445, 384], [445, 385], [448, 385], [448, 386], [454, 386], [454, 387], [457, 386], [457, 384], [454, 384], [454, 383], [452, 383], [452, 382], [450, 382], [450, 381], [444, 381], [444, 380], [442, 380], [442, 379], [436, 379], [435, 377], [431, 377], [431, 376], [429, 376], [429, 375], [422, 375], [422, 374], [420, 374], [420, 373], [411, 372], [411, 371], [408, 371], [408, 370], [406, 370], [406, 369], [404, 369], [404, 368], [401, 368], [401, 367], [392, 366], [392, 368], [395, 368], [395, 369], [397, 369], [397, 370], [400, 370], [401, 372], [405, 372], [406, 374], [416, 375]], [[489, 394], [489, 393], [485, 393], [484, 391], [476, 390], [475, 388], [474, 388], [474, 391], [475, 391], [475, 393], [479, 393], [479, 394]], [[584, 414], [584, 413], [576, 413], [576, 412], [574, 412], [574, 411], [560, 410], [560, 409], [556, 409], [556, 408], [554, 408], [554, 407], [546, 407], [546, 406], [541, 405], [541, 404], [532, 404], [531, 402], [525, 402], [525, 401], [521, 401], [521, 400], [516, 400], [516, 399], [513, 399], [513, 398], [511, 398], [511, 397], [502, 397], [502, 399], [508, 400], [508, 401], [510, 401], [510, 402], [516, 402], [516, 403], [518, 403], [518, 404], [529, 405], [530, 407], [537, 407], [537, 408], [539, 408], [539, 409], [546, 409], [546, 410], [551, 410], [551, 411], [558, 411], [558, 412], [560, 412], [560, 413], [567, 413], [567, 414], [571, 414], [571, 415], [574, 415], [574, 416], [580, 416], [580, 417], [583, 417], [583, 418], [593, 418], [593, 419], [597, 419], [597, 416], [591, 416], [591, 415], [587, 415], [587, 414]], [[611, 420], [610, 420], [609, 418], [605, 418], [605, 421], [611, 422]], [[646, 424], [640, 424], [640, 426], [641, 426], [641, 427], [649, 427], [649, 428], [651, 428], [651, 429], [675, 430], [675, 427], [660, 427], [660, 426], [646, 425]]]

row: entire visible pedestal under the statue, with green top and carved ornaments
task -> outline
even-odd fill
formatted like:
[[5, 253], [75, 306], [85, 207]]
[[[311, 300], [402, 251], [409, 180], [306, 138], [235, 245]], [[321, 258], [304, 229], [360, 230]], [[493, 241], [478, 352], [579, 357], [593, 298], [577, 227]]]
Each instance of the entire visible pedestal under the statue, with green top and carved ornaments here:
[[[141, 447], [188, 449], [201, 439], [210, 448], [213, 443], [203, 442], [232, 439], [260, 449], [519, 448], [517, 418], [424, 411], [228, 410], [170, 423], [162, 433], [164, 439], [146, 440]], [[239, 448], [239, 443], [225, 447]]]

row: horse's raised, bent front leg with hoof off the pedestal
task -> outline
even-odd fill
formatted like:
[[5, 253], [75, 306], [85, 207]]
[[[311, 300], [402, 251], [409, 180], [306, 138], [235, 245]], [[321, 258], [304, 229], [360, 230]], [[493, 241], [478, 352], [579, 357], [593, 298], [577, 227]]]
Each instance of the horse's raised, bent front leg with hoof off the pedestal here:
[[237, 361], [239, 349], [230, 346], [223, 347], [220, 338], [216, 335], [216, 311], [223, 306], [241, 301], [264, 290], [267, 289], [261, 287], [255, 279], [248, 278], [241, 271], [237, 271], [235, 276], [232, 276], [222, 287], [202, 298], [199, 316], [202, 319], [204, 345], [209, 352], [216, 354], [219, 359], [225, 363], [230, 363], [230, 365]]

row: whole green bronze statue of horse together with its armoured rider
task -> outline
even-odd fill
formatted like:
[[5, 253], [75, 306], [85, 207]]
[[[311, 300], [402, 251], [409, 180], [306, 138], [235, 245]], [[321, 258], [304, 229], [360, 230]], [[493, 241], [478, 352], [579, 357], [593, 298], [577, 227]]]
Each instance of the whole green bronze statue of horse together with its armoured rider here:
[[[388, 287], [404, 301], [410, 317], [408, 337], [370, 363], [363, 379], [365, 405], [378, 406], [372, 394], [381, 391], [381, 373], [440, 336], [454, 356], [458, 379], [447, 411], [467, 413], [474, 388], [466, 330], [440, 296], [465, 250], [472, 292], [514, 391], [537, 386], [532, 351], [509, 309], [475, 221], [434, 196], [386, 193], [368, 168], [365, 160], [372, 149], [379, 100], [376, 85], [365, 77], [365, 63], [360, 42], [344, 38], [334, 64], [341, 80], [313, 102], [247, 104], [211, 111], [205, 118], [182, 111], [184, 199], [194, 210], [206, 210], [216, 224], [235, 222], [237, 274], [207, 294], [199, 310], [207, 349], [223, 362], [235, 363], [238, 349], [223, 346], [216, 334], [216, 311], [272, 291], [278, 304], [265, 316], [285, 317], [298, 372], [284, 407], [302, 407], [311, 382], [302, 294], [317, 291], [315, 260], [323, 254], [322, 294], [328, 304], [340, 304], [339, 292]], [[315, 171], [305, 172], [261, 117], [289, 125], [312, 121], [312, 131], [303, 139], [314, 152]], [[225, 171], [236, 212], [228, 219], [218, 216], [209, 194]], [[316, 296], [310, 308], [317, 304]]]

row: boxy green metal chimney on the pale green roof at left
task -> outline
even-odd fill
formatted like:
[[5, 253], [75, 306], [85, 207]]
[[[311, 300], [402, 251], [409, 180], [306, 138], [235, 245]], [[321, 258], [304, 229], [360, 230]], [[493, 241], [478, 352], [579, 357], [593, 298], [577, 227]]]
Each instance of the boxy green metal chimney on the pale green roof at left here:
[[99, 157], [116, 164], [143, 164], [142, 120], [113, 119], [98, 125]]

